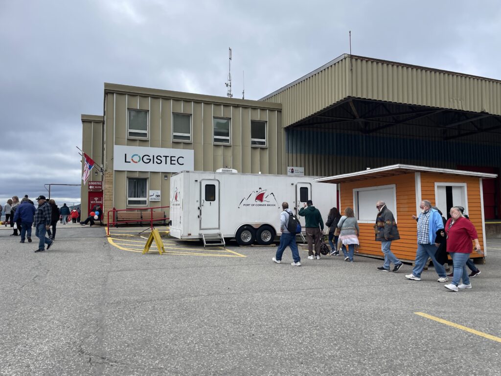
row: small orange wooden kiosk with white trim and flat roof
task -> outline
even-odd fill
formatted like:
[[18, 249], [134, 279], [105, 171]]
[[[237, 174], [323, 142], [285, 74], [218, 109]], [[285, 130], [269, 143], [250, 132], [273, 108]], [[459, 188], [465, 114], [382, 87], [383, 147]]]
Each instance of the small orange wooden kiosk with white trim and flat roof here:
[[483, 256], [487, 255], [483, 212], [482, 179], [495, 178], [492, 173], [452, 170], [394, 164], [343, 175], [319, 178], [316, 181], [339, 183], [339, 209], [353, 208], [360, 227], [360, 254], [383, 257], [381, 243], [376, 242], [374, 224], [376, 202], [384, 201], [393, 212], [400, 240], [391, 250], [403, 261], [414, 261], [417, 248], [417, 224], [412, 215], [419, 213], [419, 204], [428, 200], [447, 218], [452, 206], [464, 207], [465, 214], [478, 233]]

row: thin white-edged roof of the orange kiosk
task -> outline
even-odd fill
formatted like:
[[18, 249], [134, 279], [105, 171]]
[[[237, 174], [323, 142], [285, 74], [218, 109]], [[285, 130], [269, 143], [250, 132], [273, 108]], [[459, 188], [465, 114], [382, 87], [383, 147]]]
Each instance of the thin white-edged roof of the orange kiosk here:
[[363, 171], [345, 173], [343, 175], [321, 177], [315, 179], [318, 182], [325, 183], [346, 183], [352, 181], [375, 179], [378, 177], [389, 177], [395, 175], [402, 175], [406, 173], [414, 172], [432, 172], [440, 174], [449, 175], [463, 175], [463, 176], [474, 176], [478, 178], [494, 178], [497, 177], [495, 173], [484, 173], [484, 172], [474, 172], [474, 171], [463, 171], [463, 170], [453, 170], [447, 168], [435, 168], [435, 167], [423, 167], [423, 166], [413, 166], [410, 164], [393, 164], [390, 166], [371, 168]]

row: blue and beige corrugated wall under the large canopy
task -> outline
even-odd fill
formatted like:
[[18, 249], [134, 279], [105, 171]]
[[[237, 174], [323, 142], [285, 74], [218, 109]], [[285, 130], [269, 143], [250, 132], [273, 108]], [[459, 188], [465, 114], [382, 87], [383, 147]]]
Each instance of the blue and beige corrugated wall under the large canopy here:
[[501, 166], [501, 145], [286, 129], [288, 165], [332, 176], [396, 163], [456, 168]]

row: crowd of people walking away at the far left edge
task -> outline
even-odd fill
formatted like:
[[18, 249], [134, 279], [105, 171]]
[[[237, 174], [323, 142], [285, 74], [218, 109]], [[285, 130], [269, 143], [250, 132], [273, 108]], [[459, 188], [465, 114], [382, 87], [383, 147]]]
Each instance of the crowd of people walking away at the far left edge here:
[[[35, 199], [38, 208], [32, 200], [25, 195], [21, 201], [18, 196], [13, 196], [7, 200], [4, 206], [0, 206], [0, 218], [2, 212], [5, 215], [5, 226], [13, 229], [11, 236], [21, 236], [20, 243], [32, 242], [32, 228], [35, 228], [35, 236], [39, 238], [38, 249], [35, 252], [45, 251], [45, 246], [49, 249], [56, 240], [57, 223], [66, 225], [73, 219], [73, 223], [80, 221], [80, 209], [73, 209], [63, 204], [61, 209], [52, 199], [48, 200], [40, 195]], [[48, 237], [46, 236], [48, 235]]]

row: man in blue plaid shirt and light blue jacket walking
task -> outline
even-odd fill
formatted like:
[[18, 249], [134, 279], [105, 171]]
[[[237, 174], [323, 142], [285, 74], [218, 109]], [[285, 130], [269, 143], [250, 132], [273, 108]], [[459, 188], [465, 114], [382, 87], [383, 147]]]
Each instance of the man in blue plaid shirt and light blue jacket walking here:
[[421, 201], [419, 208], [421, 209], [421, 213], [417, 218], [416, 260], [412, 274], [407, 274], [405, 278], [420, 281], [421, 272], [428, 257], [430, 257], [439, 277], [437, 282], [447, 282], [448, 278], [445, 274], [445, 268], [435, 259], [435, 252], [437, 250], [437, 246], [435, 245], [436, 232], [443, 229], [442, 217], [438, 214], [438, 211], [431, 208], [431, 203], [428, 200]]

